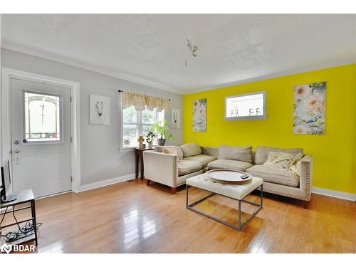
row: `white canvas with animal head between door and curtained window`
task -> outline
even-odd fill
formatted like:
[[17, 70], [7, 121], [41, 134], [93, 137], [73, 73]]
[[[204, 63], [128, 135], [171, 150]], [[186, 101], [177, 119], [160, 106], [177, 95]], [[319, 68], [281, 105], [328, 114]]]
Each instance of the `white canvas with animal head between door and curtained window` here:
[[89, 96], [89, 120], [93, 125], [110, 125], [110, 98], [101, 95]]

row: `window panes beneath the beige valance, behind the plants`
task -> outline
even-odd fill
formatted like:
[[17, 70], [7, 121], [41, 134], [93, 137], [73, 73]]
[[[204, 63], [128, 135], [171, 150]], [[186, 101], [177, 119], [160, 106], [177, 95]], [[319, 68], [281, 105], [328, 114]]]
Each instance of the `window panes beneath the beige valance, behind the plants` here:
[[[122, 110], [122, 147], [138, 147], [137, 138], [145, 137], [156, 120], [164, 119], [164, 111], [135, 110], [133, 105]], [[155, 140], [156, 142], [156, 140]], [[155, 143], [154, 143], [155, 144]]]

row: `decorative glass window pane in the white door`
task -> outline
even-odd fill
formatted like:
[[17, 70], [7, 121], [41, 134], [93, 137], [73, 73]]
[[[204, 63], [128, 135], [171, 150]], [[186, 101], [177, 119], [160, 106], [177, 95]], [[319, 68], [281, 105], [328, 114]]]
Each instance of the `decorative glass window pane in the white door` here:
[[23, 91], [23, 138], [61, 141], [61, 96]]

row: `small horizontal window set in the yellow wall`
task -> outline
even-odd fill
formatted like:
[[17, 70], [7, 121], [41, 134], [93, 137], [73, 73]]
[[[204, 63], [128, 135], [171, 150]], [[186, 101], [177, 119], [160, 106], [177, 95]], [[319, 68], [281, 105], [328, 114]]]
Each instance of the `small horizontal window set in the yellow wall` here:
[[266, 93], [234, 95], [225, 98], [225, 120], [266, 118]]

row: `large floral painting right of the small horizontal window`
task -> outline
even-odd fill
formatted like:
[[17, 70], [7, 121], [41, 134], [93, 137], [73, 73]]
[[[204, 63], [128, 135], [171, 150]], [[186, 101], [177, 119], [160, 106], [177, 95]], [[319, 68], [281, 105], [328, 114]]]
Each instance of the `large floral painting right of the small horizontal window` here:
[[325, 133], [325, 90], [325, 82], [295, 86], [293, 132], [296, 135]]

